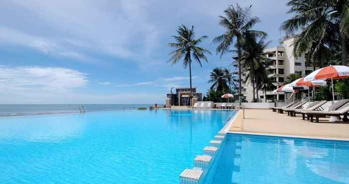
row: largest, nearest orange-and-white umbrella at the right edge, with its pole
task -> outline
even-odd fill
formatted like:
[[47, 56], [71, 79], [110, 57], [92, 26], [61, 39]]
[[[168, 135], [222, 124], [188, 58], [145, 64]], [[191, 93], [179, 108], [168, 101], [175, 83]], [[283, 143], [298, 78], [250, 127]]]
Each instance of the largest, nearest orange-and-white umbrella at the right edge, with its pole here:
[[327, 66], [321, 69], [318, 69], [308, 76], [304, 78], [304, 81], [315, 81], [315, 80], [330, 80], [331, 79], [331, 86], [332, 86], [332, 97], [333, 102], [335, 102], [335, 92], [333, 87], [333, 80], [334, 79], [346, 79], [349, 76], [349, 67], [347, 66], [341, 66], [341, 65], [334, 65], [334, 66]]

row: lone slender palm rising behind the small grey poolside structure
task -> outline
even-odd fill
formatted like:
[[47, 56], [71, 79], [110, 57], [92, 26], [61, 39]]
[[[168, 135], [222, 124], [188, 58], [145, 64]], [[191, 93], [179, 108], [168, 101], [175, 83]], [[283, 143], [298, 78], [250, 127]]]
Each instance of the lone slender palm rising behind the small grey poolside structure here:
[[197, 45], [201, 43], [204, 39], [208, 38], [208, 36], [201, 36], [198, 39], [195, 39], [195, 31], [194, 26], [191, 26], [191, 29], [188, 29], [185, 25], [178, 26], [177, 36], [173, 36], [176, 43], [169, 43], [169, 46], [175, 48], [174, 51], [170, 53], [172, 55], [168, 62], [171, 62], [172, 65], [175, 65], [183, 56], [183, 66], [186, 68], [189, 66], [189, 80], [190, 80], [190, 105], [191, 105], [191, 97], [193, 96], [193, 92], [191, 89], [191, 57], [202, 67], [201, 60], [207, 62], [207, 57], [205, 53], [211, 54], [210, 51], [204, 49], [202, 47], [198, 47]]

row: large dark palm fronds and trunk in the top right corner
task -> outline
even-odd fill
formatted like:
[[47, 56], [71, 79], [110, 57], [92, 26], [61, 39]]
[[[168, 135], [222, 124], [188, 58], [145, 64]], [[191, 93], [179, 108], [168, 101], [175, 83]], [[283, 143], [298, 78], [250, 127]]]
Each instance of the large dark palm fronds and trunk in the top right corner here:
[[348, 4], [348, 0], [290, 0], [287, 3], [291, 6], [288, 13], [295, 16], [284, 21], [281, 27], [287, 32], [302, 30], [294, 43], [294, 54], [300, 56], [304, 52], [311, 53], [307, 60], [311, 60], [313, 68], [319, 62], [316, 59], [322, 58], [322, 50], [340, 44], [338, 40], [342, 42], [342, 63], [347, 65], [348, 36], [343, 21], [346, 17], [343, 13], [345, 4]]

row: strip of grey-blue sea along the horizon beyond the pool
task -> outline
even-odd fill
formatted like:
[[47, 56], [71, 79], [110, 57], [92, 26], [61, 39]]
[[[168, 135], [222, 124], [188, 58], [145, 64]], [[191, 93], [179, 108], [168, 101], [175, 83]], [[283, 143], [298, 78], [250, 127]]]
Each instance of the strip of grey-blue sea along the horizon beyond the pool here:
[[[149, 107], [154, 104], [83, 104], [88, 112]], [[0, 104], [0, 116], [80, 112], [81, 104]]]

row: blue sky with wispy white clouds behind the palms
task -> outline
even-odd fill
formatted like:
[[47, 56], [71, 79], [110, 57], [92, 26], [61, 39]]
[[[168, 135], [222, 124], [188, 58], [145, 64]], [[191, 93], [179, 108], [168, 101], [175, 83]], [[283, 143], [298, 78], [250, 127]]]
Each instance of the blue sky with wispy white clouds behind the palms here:
[[165, 103], [172, 87], [188, 87], [189, 71], [167, 63], [172, 35], [194, 25], [208, 63], [193, 63], [192, 83], [205, 94], [215, 67], [233, 69], [212, 39], [229, 4], [252, 4], [270, 47], [290, 17], [287, 0], [2, 0], [0, 103]]

